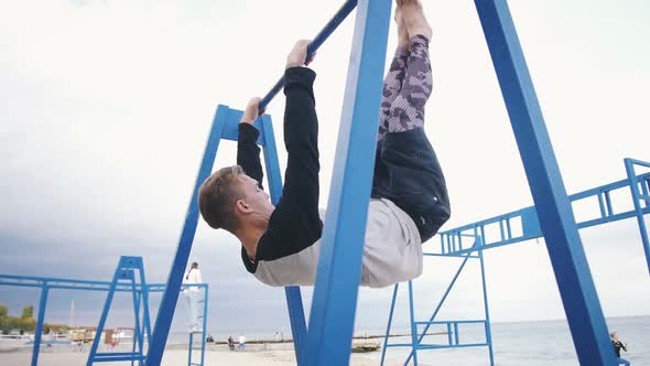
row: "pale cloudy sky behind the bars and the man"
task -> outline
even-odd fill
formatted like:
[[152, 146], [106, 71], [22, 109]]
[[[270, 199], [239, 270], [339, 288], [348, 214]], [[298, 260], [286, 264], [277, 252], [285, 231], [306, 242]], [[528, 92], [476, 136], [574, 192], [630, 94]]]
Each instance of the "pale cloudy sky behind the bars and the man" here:
[[[650, 160], [650, 4], [509, 3], [566, 191], [622, 180], [624, 158]], [[143, 257], [148, 281], [164, 282], [217, 105], [240, 109], [266, 94], [294, 41], [314, 36], [339, 6], [0, 0], [0, 273], [109, 280], [119, 256], [131, 255]], [[530, 206], [473, 2], [425, 0], [424, 7], [434, 29], [434, 93], [425, 129], [453, 204], [445, 228]], [[318, 74], [322, 206], [353, 26], [349, 17], [311, 65]], [[388, 57], [397, 44], [393, 33], [391, 28]], [[268, 108], [280, 148], [282, 110], [280, 96]], [[215, 166], [232, 164], [235, 148], [221, 143]], [[285, 166], [284, 150], [279, 153]], [[631, 207], [629, 194], [615, 198], [615, 207]], [[593, 205], [574, 209], [585, 217]], [[581, 238], [605, 315], [650, 314], [636, 222], [584, 229]], [[191, 258], [210, 286], [210, 330], [289, 329], [283, 291], [246, 272], [232, 236], [199, 223]], [[543, 239], [487, 250], [485, 259], [492, 321], [564, 317]], [[414, 283], [419, 317], [429, 317], [455, 266], [449, 258], [425, 260]], [[477, 263], [468, 265], [441, 319], [481, 315], [479, 276]], [[307, 311], [311, 293], [303, 289]], [[361, 289], [358, 330], [384, 326], [391, 293], [392, 288]], [[0, 303], [13, 314], [37, 297], [30, 289], [0, 288]], [[408, 319], [404, 299], [399, 324]], [[104, 294], [73, 291], [52, 293], [46, 321], [69, 322], [72, 300], [74, 323], [96, 324]], [[176, 329], [184, 322], [184, 304], [178, 305]], [[124, 299], [111, 316], [112, 324], [127, 325]]]

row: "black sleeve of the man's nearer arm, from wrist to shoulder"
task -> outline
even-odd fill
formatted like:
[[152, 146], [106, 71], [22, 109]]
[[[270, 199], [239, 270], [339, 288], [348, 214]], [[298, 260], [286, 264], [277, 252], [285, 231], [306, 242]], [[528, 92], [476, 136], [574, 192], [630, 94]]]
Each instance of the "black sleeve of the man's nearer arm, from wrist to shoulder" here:
[[296, 254], [316, 243], [323, 232], [318, 215], [321, 164], [315, 78], [316, 73], [306, 67], [292, 67], [284, 73], [284, 144], [289, 155], [284, 187], [258, 244], [257, 261]]

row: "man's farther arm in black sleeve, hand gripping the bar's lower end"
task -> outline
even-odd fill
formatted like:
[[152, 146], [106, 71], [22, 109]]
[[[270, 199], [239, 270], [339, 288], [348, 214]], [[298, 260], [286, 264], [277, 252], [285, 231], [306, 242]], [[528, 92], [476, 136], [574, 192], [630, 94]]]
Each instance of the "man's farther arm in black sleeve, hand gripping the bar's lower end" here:
[[241, 117], [237, 139], [237, 164], [243, 169], [246, 175], [258, 181], [260, 189], [263, 189], [264, 173], [260, 161], [260, 147], [257, 142], [260, 132], [252, 125], [258, 117], [259, 104], [260, 98], [250, 99]]

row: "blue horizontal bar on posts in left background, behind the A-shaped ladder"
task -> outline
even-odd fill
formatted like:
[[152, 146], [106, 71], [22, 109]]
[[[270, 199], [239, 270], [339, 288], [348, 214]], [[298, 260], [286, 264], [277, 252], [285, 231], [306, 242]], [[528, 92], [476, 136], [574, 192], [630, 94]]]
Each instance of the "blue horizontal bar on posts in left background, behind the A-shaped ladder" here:
[[[140, 257], [136, 257], [140, 258]], [[108, 281], [90, 281], [90, 280], [74, 280], [74, 279], [62, 279], [62, 278], [50, 278], [50, 277], [33, 277], [33, 276], [15, 276], [15, 274], [0, 274], [0, 286], [10, 286], [10, 287], [20, 287], [20, 288], [35, 288], [41, 289], [40, 302], [37, 308], [37, 320], [36, 326], [34, 330], [34, 345], [32, 348], [32, 360], [30, 365], [36, 366], [39, 364], [39, 354], [41, 351], [41, 344], [44, 343], [42, 341], [43, 334], [43, 326], [45, 324], [45, 310], [47, 305], [47, 299], [50, 294], [50, 290], [77, 290], [77, 291], [111, 291], [112, 282]], [[198, 287], [204, 289], [205, 299], [207, 299], [208, 294], [208, 284], [207, 283], [197, 283], [197, 284], [183, 284], [181, 289], [185, 289], [188, 287]], [[137, 300], [134, 301], [134, 309], [139, 309], [140, 303], [142, 301], [143, 293], [158, 293], [164, 292], [165, 284], [164, 283], [149, 283], [144, 287], [141, 283], [136, 284], [136, 294]], [[133, 286], [129, 282], [121, 282], [118, 281], [113, 288], [115, 292], [133, 292]], [[143, 306], [142, 313], [142, 322], [143, 324], [149, 324], [149, 309], [148, 306]], [[204, 304], [203, 310], [203, 326], [204, 330], [207, 326], [207, 302]], [[132, 352], [130, 354], [136, 353], [137, 342], [143, 338], [144, 330], [142, 327], [134, 327], [133, 333], [133, 346]], [[150, 333], [148, 333], [149, 335]], [[149, 341], [149, 337], [148, 337]], [[46, 343], [46, 342], [45, 342]], [[192, 352], [192, 351], [189, 351]], [[112, 353], [112, 356], [120, 356], [117, 353]], [[127, 356], [129, 353], [121, 354], [121, 356]], [[138, 357], [138, 355], [137, 355]], [[201, 348], [201, 364], [194, 363], [192, 365], [203, 365], [205, 359], [205, 337], [202, 340], [202, 348]], [[118, 359], [115, 359], [118, 360]], [[131, 365], [133, 362], [137, 360], [133, 357], [128, 359], [120, 359], [120, 360], [131, 360]], [[188, 364], [189, 365], [189, 364]]]

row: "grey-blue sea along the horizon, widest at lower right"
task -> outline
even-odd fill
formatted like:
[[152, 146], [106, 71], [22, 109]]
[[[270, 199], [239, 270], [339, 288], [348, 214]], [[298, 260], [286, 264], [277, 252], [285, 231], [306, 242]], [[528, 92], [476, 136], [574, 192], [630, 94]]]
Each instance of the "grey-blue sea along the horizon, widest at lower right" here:
[[[621, 357], [635, 366], [650, 366], [650, 316], [610, 317], [607, 319], [607, 326], [610, 331], [616, 331], [619, 340], [627, 344], [628, 352], [622, 352]], [[434, 332], [444, 330], [438, 327]], [[408, 329], [398, 329], [396, 332], [399, 334], [410, 333]], [[366, 333], [382, 334], [383, 331], [364, 330], [358, 331], [356, 335]], [[215, 338], [224, 337], [225, 340], [229, 334], [215, 331], [212, 335]], [[236, 338], [238, 334], [231, 335]], [[246, 335], [248, 340], [273, 340], [274, 332], [252, 332]], [[579, 365], [568, 330], [568, 323], [565, 320], [492, 323], [491, 337], [494, 360], [495, 365], [498, 366]], [[181, 333], [171, 334], [171, 342], [186, 342], [181, 340], [186, 340], [186, 335], [183, 336]], [[485, 340], [485, 330], [483, 326], [461, 325], [458, 329], [458, 341], [461, 344], [481, 343]], [[371, 341], [382, 344], [383, 337]], [[389, 338], [390, 344], [410, 342], [410, 335]], [[422, 343], [447, 344], [448, 336], [447, 334], [427, 335]], [[411, 348], [407, 347], [389, 347], [387, 349], [384, 365], [403, 365], [407, 356], [411, 353]], [[379, 365], [381, 351], [366, 354], [365, 357], [376, 359], [377, 365]], [[419, 351], [418, 364], [422, 366], [485, 366], [490, 365], [490, 362], [487, 347], [465, 347]]]

